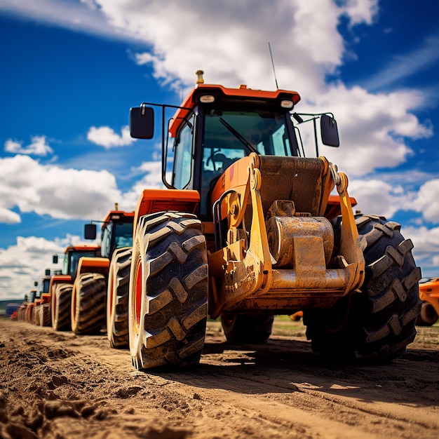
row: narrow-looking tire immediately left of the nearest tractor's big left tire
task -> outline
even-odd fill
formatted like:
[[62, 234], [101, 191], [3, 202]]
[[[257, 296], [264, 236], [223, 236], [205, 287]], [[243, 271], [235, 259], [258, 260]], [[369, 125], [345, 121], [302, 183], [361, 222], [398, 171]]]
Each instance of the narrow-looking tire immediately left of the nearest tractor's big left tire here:
[[128, 347], [128, 293], [133, 248], [114, 251], [107, 288], [107, 337], [112, 348]]

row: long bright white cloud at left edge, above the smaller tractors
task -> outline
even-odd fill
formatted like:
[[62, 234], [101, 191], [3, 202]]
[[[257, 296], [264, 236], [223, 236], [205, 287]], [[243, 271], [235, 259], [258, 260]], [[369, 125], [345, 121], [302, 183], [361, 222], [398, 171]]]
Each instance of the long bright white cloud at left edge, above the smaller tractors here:
[[0, 158], [0, 175], [0, 208], [6, 210], [16, 206], [21, 212], [88, 219], [107, 212], [123, 197], [106, 170], [41, 165], [29, 156]]

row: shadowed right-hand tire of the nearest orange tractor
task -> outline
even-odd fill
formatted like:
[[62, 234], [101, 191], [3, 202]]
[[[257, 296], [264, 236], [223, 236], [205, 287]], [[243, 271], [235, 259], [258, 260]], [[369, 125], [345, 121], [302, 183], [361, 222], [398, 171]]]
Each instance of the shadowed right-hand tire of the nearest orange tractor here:
[[[335, 243], [340, 221], [333, 222]], [[400, 224], [372, 215], [357, 216], [356, 224], [366, 264], [361, 292], [339, 299], [331, 309], [305, 311], [306, 336], [313, 351], [332, 360], [391, 360], [416, 335], [421, 269]]]

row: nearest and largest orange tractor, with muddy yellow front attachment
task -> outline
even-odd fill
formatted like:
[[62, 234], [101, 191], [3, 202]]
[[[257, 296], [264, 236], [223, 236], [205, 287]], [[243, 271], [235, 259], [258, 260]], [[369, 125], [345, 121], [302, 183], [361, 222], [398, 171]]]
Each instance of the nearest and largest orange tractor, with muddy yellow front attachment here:
[[[322, 356], [400, 356], [416, 335], [421, 270], [400, 224], [354, 215], [346, 175], [318, 156], [319, 138], [339, 146], [332, 114], [298, 114], [295, 91], [226, 88], [197, 73], [180, 107], [130, 109], [140, 139], [154, 137], [160, 109], [167, 188], [144, 189], [135, 210], [133, 365], [198, 363], [208, 316], [231, 343], [264, 343], [274, 315], [299, 310]], [[300, 135], [309, 121], [317, 157]]]

